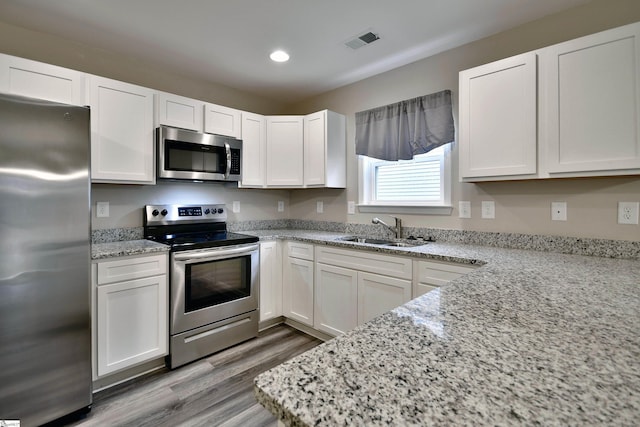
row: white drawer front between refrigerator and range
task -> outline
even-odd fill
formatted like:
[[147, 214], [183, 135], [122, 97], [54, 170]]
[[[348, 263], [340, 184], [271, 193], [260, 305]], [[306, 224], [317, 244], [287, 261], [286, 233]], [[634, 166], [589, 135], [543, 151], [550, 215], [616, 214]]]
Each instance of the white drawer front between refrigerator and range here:
[[98, 285], [167, 274], [167, 255], [99, 262]]

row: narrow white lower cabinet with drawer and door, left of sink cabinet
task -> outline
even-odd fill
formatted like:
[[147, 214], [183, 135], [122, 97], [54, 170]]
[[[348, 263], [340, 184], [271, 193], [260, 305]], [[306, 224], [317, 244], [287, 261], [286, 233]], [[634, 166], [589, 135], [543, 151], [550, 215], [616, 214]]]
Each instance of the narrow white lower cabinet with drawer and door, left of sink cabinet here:
[[313, 245], [285, 242], [283, 255], [283, 314], [313, 327]]

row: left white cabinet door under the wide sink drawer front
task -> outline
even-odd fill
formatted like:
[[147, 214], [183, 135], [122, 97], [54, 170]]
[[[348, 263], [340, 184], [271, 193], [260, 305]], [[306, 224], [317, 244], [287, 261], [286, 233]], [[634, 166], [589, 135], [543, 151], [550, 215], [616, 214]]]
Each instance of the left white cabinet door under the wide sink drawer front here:
[[341, 335], [358, 325], [358, 272], [316, 264], [314, 328]]

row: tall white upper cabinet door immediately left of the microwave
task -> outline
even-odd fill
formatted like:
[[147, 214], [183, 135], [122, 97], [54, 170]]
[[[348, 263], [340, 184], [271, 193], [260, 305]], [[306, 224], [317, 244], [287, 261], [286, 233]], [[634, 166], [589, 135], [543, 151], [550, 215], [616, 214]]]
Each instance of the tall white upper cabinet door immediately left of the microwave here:
[[155, 183], [153, 94], [144, 87], [89, 76], [94, 182]]

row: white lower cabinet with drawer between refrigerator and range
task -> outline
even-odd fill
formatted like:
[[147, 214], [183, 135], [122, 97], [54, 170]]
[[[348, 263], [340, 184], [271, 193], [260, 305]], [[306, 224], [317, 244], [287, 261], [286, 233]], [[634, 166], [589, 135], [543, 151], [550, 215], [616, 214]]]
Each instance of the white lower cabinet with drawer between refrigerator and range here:
[[94, 379], [168, 354], [167, 255], [93, 266]]

